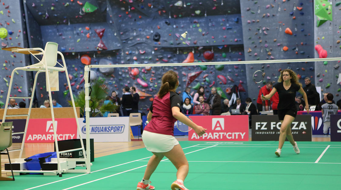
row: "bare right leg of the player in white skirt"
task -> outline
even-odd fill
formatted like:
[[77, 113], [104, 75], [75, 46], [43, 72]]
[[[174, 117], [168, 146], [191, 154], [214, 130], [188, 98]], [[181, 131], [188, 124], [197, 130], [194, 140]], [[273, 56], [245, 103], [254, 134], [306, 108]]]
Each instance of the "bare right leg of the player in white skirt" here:
[[181, 146], [179, 144], [175, 145], [172, 150], [164, 152], [163, 155], [165, 155], [178, 170], [176, 173], [177, 179], [184, 181], [188, 174], [189, 166]]

